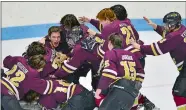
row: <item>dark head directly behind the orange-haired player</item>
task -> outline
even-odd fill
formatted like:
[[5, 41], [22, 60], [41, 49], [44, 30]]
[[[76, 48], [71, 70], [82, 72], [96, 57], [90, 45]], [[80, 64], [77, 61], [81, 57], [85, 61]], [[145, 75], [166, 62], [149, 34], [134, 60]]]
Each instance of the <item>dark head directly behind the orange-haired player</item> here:
[[127, 10], [123, 5], [114, 5], [110, 9], [114, 11], [118, 20], [125, 20], [128, 16]]

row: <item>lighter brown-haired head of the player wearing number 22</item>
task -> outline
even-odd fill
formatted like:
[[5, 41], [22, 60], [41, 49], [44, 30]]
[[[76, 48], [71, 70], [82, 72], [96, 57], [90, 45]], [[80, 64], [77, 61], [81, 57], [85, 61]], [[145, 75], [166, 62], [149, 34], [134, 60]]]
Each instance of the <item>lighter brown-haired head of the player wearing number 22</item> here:
[[45, 64], [46, 64], [46, 60], [44, 58], [44, 55], [34, 55], [28, 58], [28, 64], [37, 70], [43, 69]]

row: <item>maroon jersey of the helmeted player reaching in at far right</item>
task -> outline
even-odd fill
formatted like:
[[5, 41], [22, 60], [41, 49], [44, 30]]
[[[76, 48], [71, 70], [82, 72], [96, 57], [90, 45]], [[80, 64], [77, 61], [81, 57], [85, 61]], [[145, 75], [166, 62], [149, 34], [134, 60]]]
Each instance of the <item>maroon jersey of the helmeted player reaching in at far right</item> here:
[[156, 32], [163, 35], [162, 40], [152, 43], [151, 45], [140, 46], [141, 52], [147, 55], [162, 55], [170, 53], [175, 65], [180, 71], [186, 57], [186, 28], [184, 25], [170, 33], [165, 33], [162, 27], [158, 26]]

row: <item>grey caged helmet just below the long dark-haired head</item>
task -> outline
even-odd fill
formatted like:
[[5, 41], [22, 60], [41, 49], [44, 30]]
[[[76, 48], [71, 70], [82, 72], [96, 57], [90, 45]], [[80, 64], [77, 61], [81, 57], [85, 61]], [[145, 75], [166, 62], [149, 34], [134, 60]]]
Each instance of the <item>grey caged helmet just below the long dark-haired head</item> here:
[[83, 30], [80, 26], [74, 26], [67, 31], [66, 41], [69, 47], [73, 48], [76, 43], [83, 37]]

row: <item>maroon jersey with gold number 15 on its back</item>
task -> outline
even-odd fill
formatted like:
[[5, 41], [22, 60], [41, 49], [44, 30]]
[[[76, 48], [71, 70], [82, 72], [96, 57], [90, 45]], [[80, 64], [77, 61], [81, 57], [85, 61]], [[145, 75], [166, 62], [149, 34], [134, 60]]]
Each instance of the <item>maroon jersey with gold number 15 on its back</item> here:
[[107, 89], [118, 77], [143, 82], [144, 70], [133, 53], [123, 49], [113, 49], [105, 53], [104, 62], [99, 89]]

